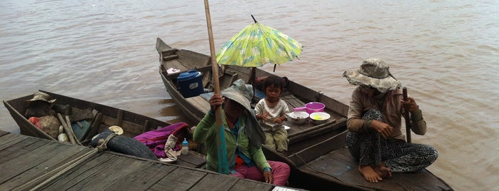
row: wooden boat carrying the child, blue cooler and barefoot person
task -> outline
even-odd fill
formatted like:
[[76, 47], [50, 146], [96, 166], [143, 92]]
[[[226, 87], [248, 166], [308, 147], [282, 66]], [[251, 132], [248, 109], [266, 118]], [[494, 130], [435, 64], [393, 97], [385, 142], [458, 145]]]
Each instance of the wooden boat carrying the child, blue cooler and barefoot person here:
[[[159, 73], [163, 83], [173, 100], [183, 113], [193, 121], [200, 121], [209, 110], [209, 93], [184, 98], [178, 91], [177, 78], [180, 73], [196, 69], [202, 73], [203, 88], [210, 89], [211, 58], [193, 51], [171, 48], [160, 38], [156, 41], [159, 54]], [[179, 70], [176, 73], [171, 68]], [[220, 67], [221, 68], [221, 67]], [[251, 68], [240, 66], [225, 66], [219, 71], [221, 90], [231, 86], [233, 81], [241, 78], [251, 83]], [[256, 78], [272, 76], [256, 68]], [[296, 125], [290, 121], [283, 124], [288, 129], [288, 152], [286, 154], [263, 148], [268, 160], [278, 160], [288, 163], [291, 167], [289, 181], [293, 187], [309, 190], [452, 190], [450, 186], [428, 170], [414, 173], [396, 173], [393, 177], [378, 183], [367, 182], [358, 172], [356, 162], [346, 148], [346, 115], [348, 105], [333, 98], [313, 91], [293, 81], [289, 81], [287, 90], [281, 96], [289, 108], [300, 108], [309, 102], [320, 102], [326, 105], [325, 112], [331, 119], [320, 125], [305, 123]], [[254, 106], [254, 105], [253, 105]]]

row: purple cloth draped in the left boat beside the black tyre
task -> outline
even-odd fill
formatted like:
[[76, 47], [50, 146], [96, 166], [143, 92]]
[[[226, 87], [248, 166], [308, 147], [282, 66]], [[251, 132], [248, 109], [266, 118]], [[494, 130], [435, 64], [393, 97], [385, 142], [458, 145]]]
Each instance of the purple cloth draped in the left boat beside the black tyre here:
[[[178, 138], [178, 133], [181, 130], [186, 130], [186, 134], [191, 132], [191, 128], [187, 123], [176, 123], [173, 125], [168, 125], [161, 129], [150, 130], [148, 132], [142, 133], [141, 135], [137, 135], [134, 139], [140, 141], [144, 145], [146, 145], [149, 149], [151, 149], [158, 158], [166, 158], [165, 154], [165, 143], [168, 140], [168, 136], [175, 135]], [[187, 136], [184, 134], [184, 136]], [[178, 138], [178, 140], [183, 141], [183, 138]], [[181, 146], [178, 142], [175, 144], [175, 148], [173, 150], [180, 150]]]

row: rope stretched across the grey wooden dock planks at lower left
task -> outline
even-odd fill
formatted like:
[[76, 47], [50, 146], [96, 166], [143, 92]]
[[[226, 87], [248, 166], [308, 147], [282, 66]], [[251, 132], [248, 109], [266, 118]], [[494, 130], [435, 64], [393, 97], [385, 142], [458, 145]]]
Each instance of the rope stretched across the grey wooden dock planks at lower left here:
[[[76, 165], [79, 165], [84, 160], [89, 159], [95, 153], [99, 153], [99, 152], [106, 150], [107, 143], [109, 142], [109, 140], [111, 140], [111, 138], [114, 138], [114, 136], [116, 136], [116, 135], [118, 135], [118, 134], [112, 133], [112, 134], [108, 135], [105, 140], [102, 140], [102, 139], [99, 140], [99, 145], [97, 145], [97, 147], [94, 148], [93, 150], [90, 150], [89, 152], [85, 153], [84, 155], [81, 155], [78, 158], [75, 158], [74, 160], [66, 162], [59, 167], [56, 167], [54, 170], [46, 172], [44, 175], [36, 177], [34, 180], [31, 180], [24, 185], [16, 187], [13, 190], [28, 190], [28, 189], [29, 190], [39, 190], [41, 187], [43, 187], [47, 183], [51, 182], [52, 180], [55, 180], [60, 175], [64, 174], [64, 172], [71, 170], [72, 168], [74, 168]], [[44, 180], [44, 181], [40, 182], [41, 180]], [[37, 183], [37, 182], [40, 182], [40, 183]], [[31, 189], [30, 189], [30, 187], [31, 187]]]

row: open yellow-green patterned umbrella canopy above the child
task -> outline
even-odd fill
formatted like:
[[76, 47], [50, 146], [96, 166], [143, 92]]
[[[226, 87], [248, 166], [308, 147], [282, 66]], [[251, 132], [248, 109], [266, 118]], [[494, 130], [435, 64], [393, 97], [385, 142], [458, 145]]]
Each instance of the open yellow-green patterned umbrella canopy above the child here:
[[[253, 15], [252, 15], [253, 17]], [[260, 67], [266, 63], [281, 64], [301, 54], [301, 43], [269, 26], [258, 23], [246, 26], [216, 55], [225, 65]]]

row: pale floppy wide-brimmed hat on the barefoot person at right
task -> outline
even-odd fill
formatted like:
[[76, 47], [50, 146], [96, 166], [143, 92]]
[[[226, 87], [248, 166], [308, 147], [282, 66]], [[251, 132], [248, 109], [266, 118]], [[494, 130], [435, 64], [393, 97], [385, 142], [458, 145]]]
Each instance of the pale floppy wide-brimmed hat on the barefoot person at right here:
[[385, 93], [402, 86], [402, 83], [392, 76], [389, 68], [388, 64], [379, 58], [368, 58], [357, 70], [345, 71], [343, 77], [353, 85], [369, 86]]

